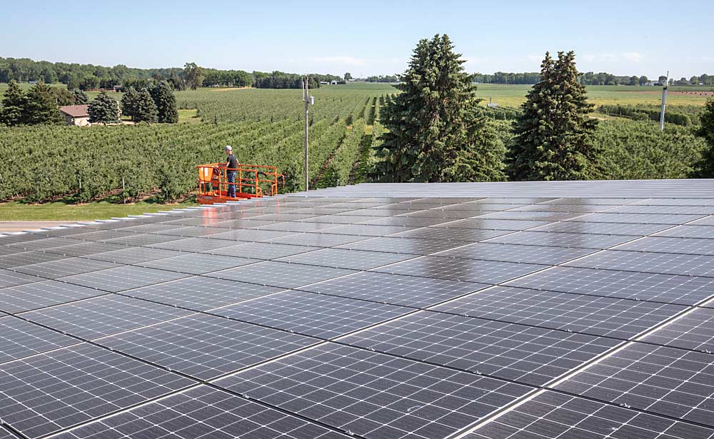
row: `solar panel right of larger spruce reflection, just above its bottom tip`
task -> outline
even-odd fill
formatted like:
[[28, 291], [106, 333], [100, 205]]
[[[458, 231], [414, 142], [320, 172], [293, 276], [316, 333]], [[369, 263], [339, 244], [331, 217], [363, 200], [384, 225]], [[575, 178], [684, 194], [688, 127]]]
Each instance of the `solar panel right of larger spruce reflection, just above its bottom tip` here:
[[593, 253], [593, 248], [565, 248], [525, 246], [501, 243], [473, 243], [453, 250], [437, 253], [436, 256], [451, 258], [487, 259], [522, 263], [558, 264]]

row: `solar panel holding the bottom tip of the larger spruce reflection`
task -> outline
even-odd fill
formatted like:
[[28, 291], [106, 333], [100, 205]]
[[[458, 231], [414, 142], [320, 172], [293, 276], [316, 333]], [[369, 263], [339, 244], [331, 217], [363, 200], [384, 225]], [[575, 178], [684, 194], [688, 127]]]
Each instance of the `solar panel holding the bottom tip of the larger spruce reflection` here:
[[422, 256], [390, 266], [373, 268], [372, 271], [452, 281], [501, 283], [546, 267], [531, 263]]

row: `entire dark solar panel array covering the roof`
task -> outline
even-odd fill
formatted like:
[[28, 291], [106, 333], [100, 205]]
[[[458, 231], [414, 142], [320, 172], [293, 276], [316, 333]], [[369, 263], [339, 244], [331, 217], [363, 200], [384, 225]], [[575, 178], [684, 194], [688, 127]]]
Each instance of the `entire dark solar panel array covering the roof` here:
[[0, 439], [714, 438], [711, 198], [407, 187], [0, 236]]

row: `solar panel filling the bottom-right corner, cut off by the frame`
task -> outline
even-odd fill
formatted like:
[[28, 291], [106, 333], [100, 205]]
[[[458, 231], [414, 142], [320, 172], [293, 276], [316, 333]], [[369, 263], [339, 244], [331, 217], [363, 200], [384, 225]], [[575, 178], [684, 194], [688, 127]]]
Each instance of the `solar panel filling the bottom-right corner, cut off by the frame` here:
[[545, 391], [465, 439], [711, 439], [714, 430]]

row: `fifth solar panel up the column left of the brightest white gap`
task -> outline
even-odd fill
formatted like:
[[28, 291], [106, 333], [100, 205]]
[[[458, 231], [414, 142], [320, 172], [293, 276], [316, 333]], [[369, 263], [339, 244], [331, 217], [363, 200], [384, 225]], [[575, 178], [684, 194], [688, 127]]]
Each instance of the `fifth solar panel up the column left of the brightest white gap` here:
[[714, 277], [714, 256], [708, 255], [605, 250], [565, 265]]

